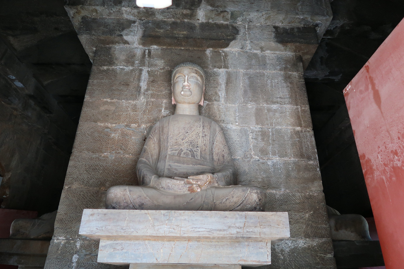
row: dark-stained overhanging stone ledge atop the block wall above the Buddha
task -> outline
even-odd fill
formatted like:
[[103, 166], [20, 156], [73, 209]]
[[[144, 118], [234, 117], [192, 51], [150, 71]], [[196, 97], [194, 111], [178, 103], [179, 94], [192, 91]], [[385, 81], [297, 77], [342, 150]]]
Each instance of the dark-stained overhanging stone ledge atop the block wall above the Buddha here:
[[90, 59], [97, 46], [227, 48], [297, 53], [306, 67], [332, 19], [328, 0], [188, 2], [157, 10], [77, 0], [65, 8]]

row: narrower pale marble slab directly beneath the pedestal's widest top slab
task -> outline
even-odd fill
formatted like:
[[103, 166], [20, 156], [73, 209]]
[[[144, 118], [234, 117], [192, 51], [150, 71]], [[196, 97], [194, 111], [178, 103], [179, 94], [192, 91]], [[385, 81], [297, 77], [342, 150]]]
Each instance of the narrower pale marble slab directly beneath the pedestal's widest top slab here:
[[[117, 249], [120, 251], [114, 251]], [[267, 240], [101, 239], [97, 261], [111, 264], [197, 263], [257, 266], [269, 264], [270, 259], [270, 242]]]

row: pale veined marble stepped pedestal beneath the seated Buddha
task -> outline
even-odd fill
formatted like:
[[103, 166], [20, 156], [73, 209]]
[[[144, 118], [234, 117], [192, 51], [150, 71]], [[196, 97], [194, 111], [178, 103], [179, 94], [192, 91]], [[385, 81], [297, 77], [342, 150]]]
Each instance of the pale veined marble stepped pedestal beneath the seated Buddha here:
[[130, 269], [223, 268], [271, 263], [288, 238], [287, 212], [84, 209], [80, 235], [100, 240], [98, 262]]

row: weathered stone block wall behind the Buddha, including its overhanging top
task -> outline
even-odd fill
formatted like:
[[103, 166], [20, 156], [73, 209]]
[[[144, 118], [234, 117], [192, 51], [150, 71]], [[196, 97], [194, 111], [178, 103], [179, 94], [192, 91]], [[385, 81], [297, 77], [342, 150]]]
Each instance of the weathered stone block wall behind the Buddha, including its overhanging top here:
[[106, 190], [135, 185], [151, 127], [174, 111], [170, 73], [206, 72], [200, 114], [221, 125], [238, 184], [266, 190], [265, 211], [288, 212], [290, 238], [269, 268], [335, 268], [303, 70], [331, 20], [328, 0], [73, 0], [66, 10], [93, 61], [46, 269], [97, 263], [99, 242], [79, 235], [83, 209]]

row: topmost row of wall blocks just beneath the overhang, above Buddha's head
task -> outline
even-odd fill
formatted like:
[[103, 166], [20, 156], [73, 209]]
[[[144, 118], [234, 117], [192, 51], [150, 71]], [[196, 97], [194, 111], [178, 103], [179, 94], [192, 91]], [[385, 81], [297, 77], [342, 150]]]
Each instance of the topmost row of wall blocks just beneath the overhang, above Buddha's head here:
[[[108, 60], [107, 60], [108, 59]], [[296, 54], [183, 48], [144, 49], [138, 46], [105, 46], [97, 50], [95, 67], [173, 68], [187, 59], [204, 69], [301, 72]], [[207, 63], [210, 60], [210, 64]]]

